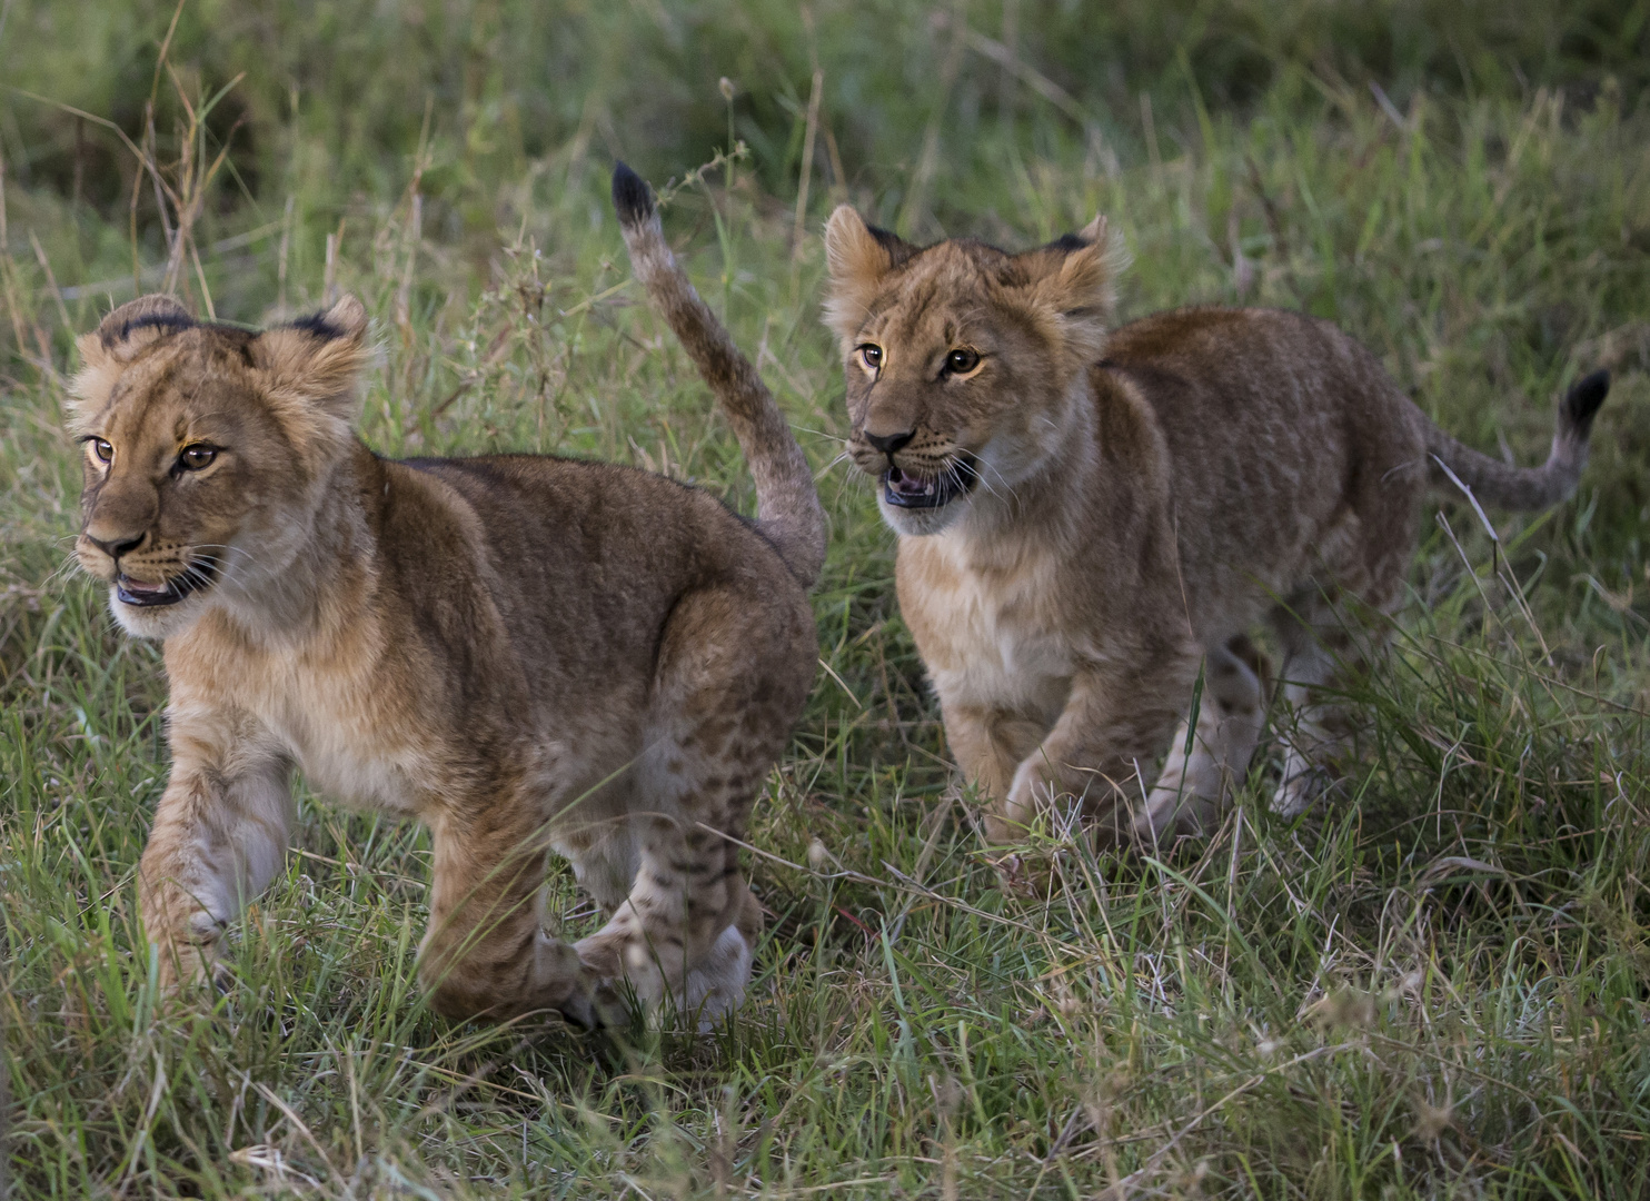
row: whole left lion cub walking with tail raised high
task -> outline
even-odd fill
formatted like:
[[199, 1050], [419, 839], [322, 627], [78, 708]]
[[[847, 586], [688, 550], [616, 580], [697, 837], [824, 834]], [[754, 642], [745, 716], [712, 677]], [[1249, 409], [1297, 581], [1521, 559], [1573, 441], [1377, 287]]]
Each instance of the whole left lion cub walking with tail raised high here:
[[[76, 553], [120, 625], [165, 640], [172, 686], [140, 864], [168, 985], [279, 874], [297, 769], [429, 825], [439, 1011], [591, 1023], [619, 982], [705, 1021], [742, 998], [762, 919], [734, 840], [813, 678], [825, 521], [624, 165], [614, 201], [751, 462], [754, 521], [610, 464], [381, 459], [351, 432], [355, 299], [248, 333], [145, 297], [81, 338]], [[576, 945], [540, 927], [548, 848], [609, 916]]]

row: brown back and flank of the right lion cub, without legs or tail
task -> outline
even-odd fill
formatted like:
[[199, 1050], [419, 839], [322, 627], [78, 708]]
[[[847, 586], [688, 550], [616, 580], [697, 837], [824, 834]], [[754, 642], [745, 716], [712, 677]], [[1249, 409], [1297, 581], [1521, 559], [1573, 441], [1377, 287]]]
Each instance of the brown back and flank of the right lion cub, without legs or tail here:
[[1092, 383], [1102, 407], [1125, 393], [1162, 429], [1193, 597], [1254, 584], [1280, 596], [1312, 548], [1350, 525], [1374, 561], [1409, 554], [1427, 475], [1421, 414], [1328, 322], [1272, 308], [1155, 313], [1112, 335]]

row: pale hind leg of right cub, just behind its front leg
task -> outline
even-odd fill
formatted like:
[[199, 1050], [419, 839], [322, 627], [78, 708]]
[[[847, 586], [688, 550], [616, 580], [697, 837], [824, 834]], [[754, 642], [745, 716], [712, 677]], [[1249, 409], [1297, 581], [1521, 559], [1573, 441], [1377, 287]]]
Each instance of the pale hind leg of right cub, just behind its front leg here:
[[1198, 732], [1186, 751], [1186, 721], [1175, 731], [1163, 772], [1135, 817], [1134, 831], [1152, 843], [1176, 831], [1208, 833], [1221, 802], [1242, 784], [1261, 741], [1266, 714], [1261, 655], [1238, 635], [1208, 652]]

